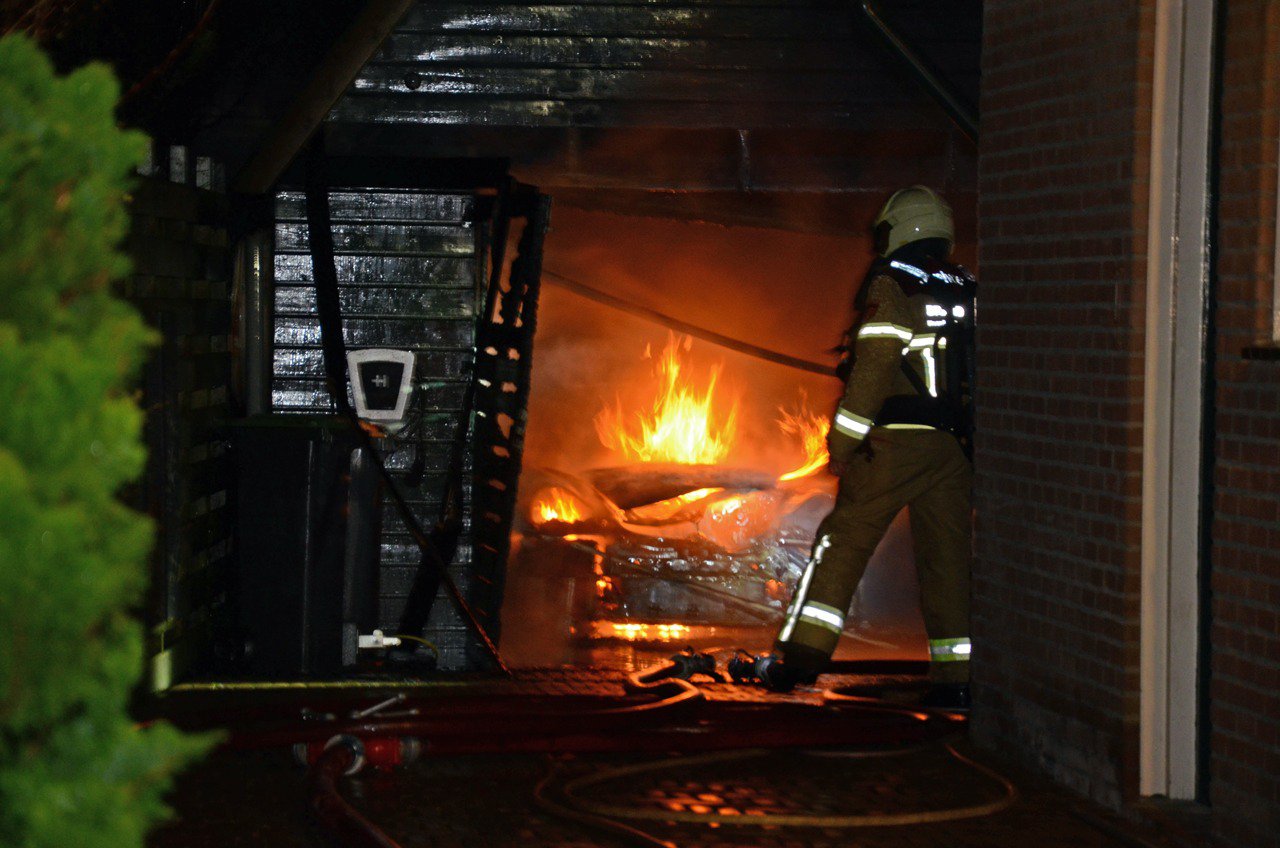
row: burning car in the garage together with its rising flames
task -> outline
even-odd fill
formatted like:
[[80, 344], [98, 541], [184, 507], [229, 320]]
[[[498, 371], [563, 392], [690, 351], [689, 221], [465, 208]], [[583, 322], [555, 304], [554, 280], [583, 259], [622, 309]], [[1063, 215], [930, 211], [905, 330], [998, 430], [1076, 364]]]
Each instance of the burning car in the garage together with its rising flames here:
[[[614, 635], [650, 628], [773, 621], [831, 510], [826, 420], [782, 412], [781, 437], [804, 451], [786, 474], [727, 464], [737, 404], [717, 398], [718, 369], [698, 384], [672, 337], [655, 360], [649, 409], [621, 401], [595, 416], [623, 464], [585, 471], [526, 469], [515, 567], [572, 582], [579, 623]], [[605, 633], [608, 635], [609, 633]]]

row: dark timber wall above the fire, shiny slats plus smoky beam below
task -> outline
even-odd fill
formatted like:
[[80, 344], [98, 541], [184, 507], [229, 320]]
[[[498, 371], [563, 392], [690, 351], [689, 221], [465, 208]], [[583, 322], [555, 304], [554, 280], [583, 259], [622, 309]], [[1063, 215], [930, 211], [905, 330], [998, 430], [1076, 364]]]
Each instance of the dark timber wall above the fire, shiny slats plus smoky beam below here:
[[[882, 0], [977, 97], [979, 0]], [[495, 156], [558, 202], [845, 232], [925, 183], [975, 229], [973, 145], [847, 0], [419, 3], [329, 115], [346, 155]]]

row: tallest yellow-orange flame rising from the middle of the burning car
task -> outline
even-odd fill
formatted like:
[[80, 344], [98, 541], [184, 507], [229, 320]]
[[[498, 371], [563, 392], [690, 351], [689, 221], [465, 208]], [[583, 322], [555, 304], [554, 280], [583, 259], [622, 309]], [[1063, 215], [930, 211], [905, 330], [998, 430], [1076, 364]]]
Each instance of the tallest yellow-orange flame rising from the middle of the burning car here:
[[[692, 338], [671, 336], [654, 368], [659, 380], [650, 412], [639, 412], [630, 427], [621, 400], [595, 416], [600, 442], [628, 460], [714, 465], [728, 456], [737, 436], [737, 402], [717, 414], [716, 384], [721, 366], [710, 371], [707, 388], [698, 391], [686, 369]], [[649, 350], [645, 350], [649, 357]]]

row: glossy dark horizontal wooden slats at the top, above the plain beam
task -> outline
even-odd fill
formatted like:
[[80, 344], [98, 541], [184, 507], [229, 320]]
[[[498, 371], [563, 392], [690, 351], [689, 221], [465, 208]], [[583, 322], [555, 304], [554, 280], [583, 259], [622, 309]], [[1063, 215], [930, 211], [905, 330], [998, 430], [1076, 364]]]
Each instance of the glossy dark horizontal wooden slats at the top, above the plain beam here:
[[847, 3], [420, 3], [330, 120], [865, 128], [936, 114]]

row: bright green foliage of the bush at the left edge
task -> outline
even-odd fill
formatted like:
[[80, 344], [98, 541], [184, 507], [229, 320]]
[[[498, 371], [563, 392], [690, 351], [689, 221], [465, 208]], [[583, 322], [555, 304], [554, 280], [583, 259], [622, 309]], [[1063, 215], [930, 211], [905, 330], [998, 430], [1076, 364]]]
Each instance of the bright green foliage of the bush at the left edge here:
[[209, 746], [127, 712], [151, 525], [116, 494], [146, 459], [129, 386], [155, 339], [110, 291], [146, 150], [118, 96], [104, 67], [55, 77], [0, 38], [0, 845], [141, 845]]

